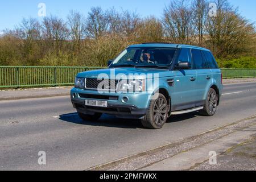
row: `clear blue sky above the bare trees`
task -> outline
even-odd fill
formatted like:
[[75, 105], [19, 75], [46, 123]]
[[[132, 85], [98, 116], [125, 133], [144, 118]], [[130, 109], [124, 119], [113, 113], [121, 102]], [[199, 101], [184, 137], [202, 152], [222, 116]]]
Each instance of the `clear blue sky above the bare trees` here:
[[[14, 28], [22, 18], [38, 18], [38, 4], [46, 4], [47, 15], [53, 14], [66, 18], [70, 10], [87, 14], [92, 6], [102, 9], [115, 7], [117, 10], [136, 10], [142, 17], [155, 15], [161, 17], [164, 6], [172, 0], [3, 0], [0, 3], [0, 30]], [[239, 7], [240, 13], [251, 22], [256, 22], [255, 0], [229, 0]], [[256, 23], [255, 23], [256, 24]]]

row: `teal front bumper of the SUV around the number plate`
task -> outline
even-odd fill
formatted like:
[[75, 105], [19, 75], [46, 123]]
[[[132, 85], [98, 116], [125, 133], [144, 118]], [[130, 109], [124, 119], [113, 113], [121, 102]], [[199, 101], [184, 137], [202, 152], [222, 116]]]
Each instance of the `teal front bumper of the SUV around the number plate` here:
[[[73, 97], [74, 94], [75, 98]], [[84, 114], [105, 113], [113, 114], [118, 118], [142, 118], [146, 114], [152, 94], [154, 92], [100, 94], [97, 90], [73, 88], [71, 101], [77, 111]], [[126, 103], [122, 102], [123, 97], [128, 98]], [[85, 106], [86, 99], [108, 101], [108, 107]]]

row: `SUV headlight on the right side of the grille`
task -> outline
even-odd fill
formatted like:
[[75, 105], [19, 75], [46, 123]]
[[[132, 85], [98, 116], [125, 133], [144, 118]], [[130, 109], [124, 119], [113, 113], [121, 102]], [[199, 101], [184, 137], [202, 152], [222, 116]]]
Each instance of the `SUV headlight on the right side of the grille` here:
[[121, 81], [119, 91], [122, 92], [143, 92], [145, 91], [145, 80]]

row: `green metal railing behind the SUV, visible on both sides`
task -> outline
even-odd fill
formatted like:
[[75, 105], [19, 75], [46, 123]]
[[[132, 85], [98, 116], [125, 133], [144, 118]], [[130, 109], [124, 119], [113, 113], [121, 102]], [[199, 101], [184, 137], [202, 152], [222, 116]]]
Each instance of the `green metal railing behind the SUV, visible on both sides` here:
[[[73, 85], [79, 72], [104, 67], [5, 67], [0, 66], [0, 88]], [[256, 77], [256, 69], [221, 69], [223, 78]]]

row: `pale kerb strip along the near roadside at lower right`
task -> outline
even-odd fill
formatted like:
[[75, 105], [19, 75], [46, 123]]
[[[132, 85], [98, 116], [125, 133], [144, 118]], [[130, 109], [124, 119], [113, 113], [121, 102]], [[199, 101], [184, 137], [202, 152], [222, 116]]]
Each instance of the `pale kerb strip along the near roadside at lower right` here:
[[[185, 139], [178, 140], [176, 142], [168, 143], [168, 144], [165, 144], [164, 146], [152, 148], [151, 150], [139, 152], [138, 154], [126, 156], [125, 158], [121, 158], [121, 159], [114, 160], [112, 162], [100, 164], [98, 166], [94, 166], [94, 167], [88, 168], [86, 170], [88, 170], [88, 171], [102, 171], [102, 170], [108, 171], [108, 170], [110, 170], [110, 171], [112, 171], [112, 170], [116, 170], [116, 169], [120, 169], [120, 168], [122, 170], [128, 170], [128, 171], [129, 170], [139, 170], [139, 169], [151, 166], [152, 164], [161, 162], [162, 160], [171, 158], [172, 156], [181, 154], [182, 152], [186, 152], [186, 151], [192, 150], [193, 148], [200, 147], [204, 144], [212, 142], [213, 140], [220, 139], [220, 138], [224, 137], [225, 135], [232, 134], [232, 133], [236, 132], [238, 129], [240, 129], [240, 130], [244, 129], [247, 127], [247, 124], [248, 124], [248, 123], [246, 123], [246, 121], [253, 120], [252, 123], [254, 123], [254, 125], [255, 125], [255, 120], [254, 120], [255, 118], [256, 118], [256, 115], [253, 115], [251, 117], [248, 117], [245, 119], [240, 119], [239, 121], [230, 123], [229, 125], [225, 125], [225, 126], [217, 127], [216, 129], [205, 131], [205, 132], [195, 135], [193, 137], [188, 137]], [[232, 127], [234, 127], [234, 129], [232, 129]], [[221, 136], [215, 136], [216, 139], [210, 138], [207, 142], [202, 142], [200, 144], [200, 142], [199, 142], [200, 137], [201, 138], [205, 137], [204, 135], [213, 135], [214, 136], [214, 133], [220, 133], [220, 130], [224, 130], [224, 131], [227, 130], [227, 131], [225, 131]], [[181, 147], [182, 150], [179, 150], [179, 152], [176, 152], [176, 154], [166, 155], [164, 153], [164, 151], [168, 151], [168, 150], [170, 151], [170, 149], [177, 147], [177, 146], [182, 146], [182, 145], [186, 146], [186, 144], [189, 145], [188, 143], [189, 142], [193, 143], [194, 140], [196, 140], [198, 143], [197, 146], [195, 146], [195, 147], [190, 147], [190, 148], [189, 147], [188, 148]], [[159, 152], [161, 152], [162, 154], [164, 153], [166, 156], [163, 156], [162, 158], [158, 158]], [[151, 156], [153, 156], [153, 158], [158, 158], [158, 159], [152, 159], [152, 161], [151, 161], [150, 160]], [[142, 162], [145, 161], [143, 158], [147, 159], [145, 164], [142, 164]]]

